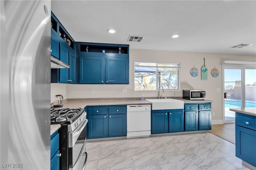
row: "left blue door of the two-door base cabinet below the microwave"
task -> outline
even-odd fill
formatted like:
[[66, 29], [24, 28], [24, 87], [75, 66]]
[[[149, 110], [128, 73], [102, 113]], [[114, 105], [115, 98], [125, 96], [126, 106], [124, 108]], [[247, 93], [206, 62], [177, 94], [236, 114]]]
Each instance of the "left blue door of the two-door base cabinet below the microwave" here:
[[185, 131], [198, 131], [198, 111], [185, 111]]

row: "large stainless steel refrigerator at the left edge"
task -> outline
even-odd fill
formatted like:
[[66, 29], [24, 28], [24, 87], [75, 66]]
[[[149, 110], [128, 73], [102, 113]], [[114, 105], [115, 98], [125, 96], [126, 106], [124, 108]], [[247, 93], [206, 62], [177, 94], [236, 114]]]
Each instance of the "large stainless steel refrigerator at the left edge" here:
[[50, 169], [50, 0], [0, 1], [0, 169]]

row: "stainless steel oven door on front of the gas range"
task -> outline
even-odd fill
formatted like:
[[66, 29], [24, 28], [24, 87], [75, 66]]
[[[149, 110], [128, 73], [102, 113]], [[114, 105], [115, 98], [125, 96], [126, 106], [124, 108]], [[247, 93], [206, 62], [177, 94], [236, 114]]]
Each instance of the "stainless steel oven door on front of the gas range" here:
[[88, 119], [82, 123], [74, 132], [68, 133], [68, 168], [69, 170], [82, 170], [85, 167], [86, 139], [78, 140], [79, 137], [86, 136], [86, 124]]

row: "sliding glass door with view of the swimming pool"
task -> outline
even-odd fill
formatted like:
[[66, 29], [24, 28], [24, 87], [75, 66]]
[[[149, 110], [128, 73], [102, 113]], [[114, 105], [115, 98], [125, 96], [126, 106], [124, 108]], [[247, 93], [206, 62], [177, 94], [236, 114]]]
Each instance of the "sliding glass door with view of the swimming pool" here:
[[256, 69], [224, 66], [225, 121], [234, 121], [229, 108], [256, 107]]

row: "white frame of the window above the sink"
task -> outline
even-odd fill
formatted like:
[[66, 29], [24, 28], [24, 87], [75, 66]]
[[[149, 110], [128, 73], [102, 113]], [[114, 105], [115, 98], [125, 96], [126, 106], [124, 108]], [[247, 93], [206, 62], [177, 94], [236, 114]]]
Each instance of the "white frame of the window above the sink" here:
[[[156, 76], [156, 88], [155, 89], [135, 89], [135, 68], [136, 68], [136, 63], [152, 63], [155, 64], [155, 66], [141, 66], [144, 68], [156, 68], [156, 72], [158, 72], [158, 68], [177, 68], [177, 88], [164, 88], [164, 90], [170, 90], [170, 91], [180, 91], [180, 63], [169, 63], [169, 62], [144, 62], [144, 61], [134, 61], [134, 91], [157, 91], [159, 85], [159, 80], [158, 80], [158, 76]], [[169, 64], [169, 65], [176, 65], [176, 66], [159, 66], [161, 64]], [[155, 75], [156, 75], [155, 72]]]

